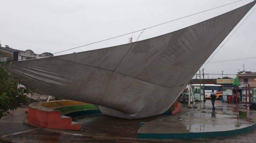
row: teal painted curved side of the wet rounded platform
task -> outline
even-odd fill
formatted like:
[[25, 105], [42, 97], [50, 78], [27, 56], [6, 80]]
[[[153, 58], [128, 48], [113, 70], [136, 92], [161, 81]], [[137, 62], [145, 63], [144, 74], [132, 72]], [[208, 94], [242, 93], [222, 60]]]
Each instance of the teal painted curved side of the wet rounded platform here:
[[143, 139], [191, 139], [191, 138], [213, 138], [213, 137], [223, 137], [236, 134], [242, 134], [255, 130], [256, 124], [251, 126], [230, 130], [230, 131], [220, 131], [220, 132], [204, 132], [204, 133], [173, 133], [173, 134], [155, 134], [155, 133], [140, 133], [137, 138]]

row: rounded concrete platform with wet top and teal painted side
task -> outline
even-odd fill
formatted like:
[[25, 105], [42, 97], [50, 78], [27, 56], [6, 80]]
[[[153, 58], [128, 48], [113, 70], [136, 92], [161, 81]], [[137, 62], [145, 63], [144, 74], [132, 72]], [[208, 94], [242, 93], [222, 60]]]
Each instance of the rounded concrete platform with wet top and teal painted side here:
[[212, 138], [242, 134], [255, 127], [253, 119], [235, 112], [193, 110], [180, 116], [168, 116], [145, 123], [139, 128], [137, 138]]

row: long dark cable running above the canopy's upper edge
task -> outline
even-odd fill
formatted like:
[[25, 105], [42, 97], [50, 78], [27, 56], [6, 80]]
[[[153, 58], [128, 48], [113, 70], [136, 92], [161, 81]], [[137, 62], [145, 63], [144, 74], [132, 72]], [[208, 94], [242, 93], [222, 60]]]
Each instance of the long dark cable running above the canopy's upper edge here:
[[[119, 35], [119, 36], [107, 38], [107, 39], [100, 40], [100, 41], [97, 41], [97, 42], [93, 42], [93, 43], [90, 43], [90, 44], [81, 45], [81, 46], [78, 46], [78, 47], [74, 47], [74, 48], [70, 48], [70, 49], [67, 49], [67, 50], [59, 51], [59, 52], [56, 52], [56, 53], [53, 53], [53, 54], [65, 52], [65, 51], [68, 51], [68, 50], [80, 48], [80, 47], [87, 46], [87, 45], [96, 44], [96, 43], [99, 43], [99, 42], [103, 42], [103, 41], [107, 41], [107, 40], [110, 40], [110, 39], [114, 39], [114, 38], [118, 38], [118, 37], [121, 37], [121, 36], [125, 36], [125, 35], [131, 34], [131, 33], [139, 32], [139, 31], [142, 31], [142, 30], [145, 30], [145, 29], [157, 27], [157, 26], [160, 26], [160, 25], [163, 25], [163, 24], [166, 24], [166, 23], [170, 23], [170, 22], [173, 22], [173, 21], [182, 19], [182, 18], [186, 18], [186, 17], [192, 16], [192, 15], [196, 15], [196, 14], [199, 14], [199, 13], [203, 13], [203, 12], [206, 12], [206, 11], [209, 11], [209, 10], [213, 10], [213, 9], [217, 9], [217, 8], [220, 8], [220, 7], [224, 7], [224, 6], [227, 6], [227, 5], [230, 5], [230, 4], [234, 4], [234, 3], [237, 3], [237, 2], [240, 2], [240, 1], [243, 1], [243, 0], [235, 1], [235, 2], [232, 2], [232, 3], [229, 3], [229, 4], [225, 4], [225, 5], [222, 5], [222, 6], [219, 6], [219, 7], [215, 7], [215, 8], [208, 9], [208, 10], [204, 10], [204, 11], [197, 12], [197, 13], [194, 13], [194, 14], [190, 14], [190, 15], [187, 15], [187, 16], [184, 16], [184, 17], [180, 17], [180, 18], [177, 18], [177, 19], [174, 19], [174, 20], [171, 20], [171, 21], [167, 21], [167, 22], [164, 22], [164, 23], [161, 23], [161, 24], [157, 24], [157, 25], [154, 25], [154, 26], [151, 26], [151, 27], [147, 27], [147, 28], [144, 28], [144, 29], [140, 29], [140, 30], [137, 30], [137, 31], [134, 31], [134, 32], [129, 32], [129, 33], [126, 33], [126, 34], [122, 34], [122, 35]], [[46, 56], [50, 56], [50, 55], [46, 55]], [[38, 57], [44, 57], [44, 56], [38, 56]], [[33, 57], [33, 58], [37, 58], [37, 57]], [[19, 59], [18, 61], [20, 61], [20, 60], [24, 60], [24, 59]]]

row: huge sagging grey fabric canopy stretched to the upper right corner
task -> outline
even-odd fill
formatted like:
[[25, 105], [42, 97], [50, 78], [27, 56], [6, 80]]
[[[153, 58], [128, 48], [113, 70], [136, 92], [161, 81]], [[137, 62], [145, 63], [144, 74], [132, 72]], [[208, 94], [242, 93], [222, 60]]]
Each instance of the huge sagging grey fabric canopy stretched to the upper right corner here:
[[96, 104], [109, 116], [163, 114], [254, 4], [151, 39], [13, 62], [9, 71], [42, 94]]

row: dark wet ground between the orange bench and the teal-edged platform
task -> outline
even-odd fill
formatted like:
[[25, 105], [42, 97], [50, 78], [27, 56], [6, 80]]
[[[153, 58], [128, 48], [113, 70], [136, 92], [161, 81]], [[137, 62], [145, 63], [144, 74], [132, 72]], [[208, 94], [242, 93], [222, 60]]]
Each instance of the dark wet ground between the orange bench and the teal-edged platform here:
[[79, 116], [74, 121], [82, 125], [80, 132], [111, 137], [136, 138], [140, 122], [149, 122], [169, 115], [144, 119], [126, 120], [103, 115], [102, 113]]

